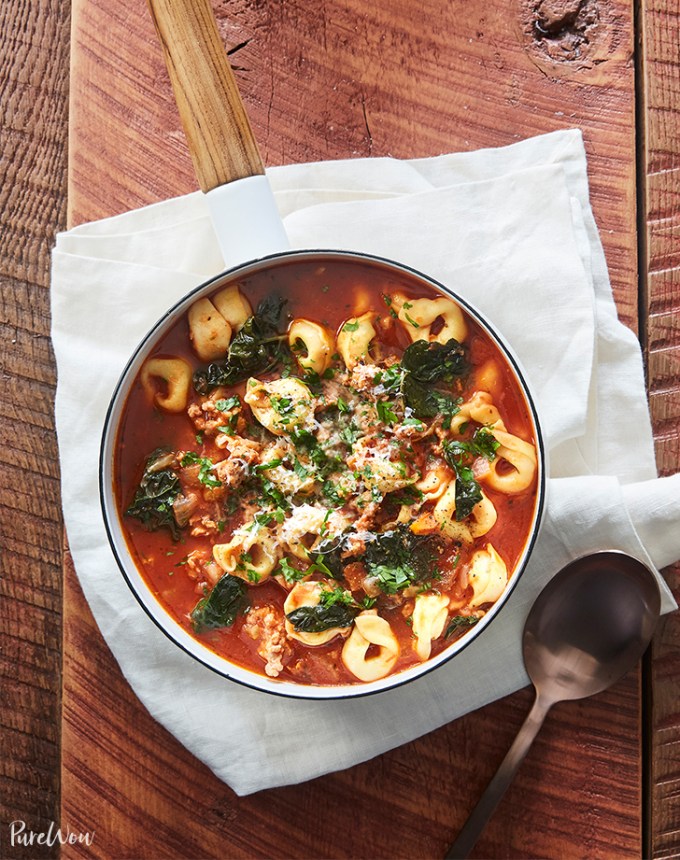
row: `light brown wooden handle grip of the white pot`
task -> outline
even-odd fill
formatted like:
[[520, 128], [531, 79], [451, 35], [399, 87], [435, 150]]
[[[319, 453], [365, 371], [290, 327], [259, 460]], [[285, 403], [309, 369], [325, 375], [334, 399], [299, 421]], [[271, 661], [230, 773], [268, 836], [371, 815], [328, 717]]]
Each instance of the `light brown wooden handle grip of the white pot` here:
[[210, 0], [148, 0], [203, 191], [264, 173]]

